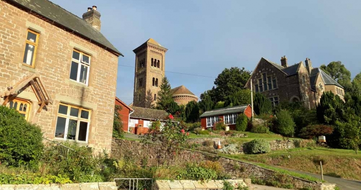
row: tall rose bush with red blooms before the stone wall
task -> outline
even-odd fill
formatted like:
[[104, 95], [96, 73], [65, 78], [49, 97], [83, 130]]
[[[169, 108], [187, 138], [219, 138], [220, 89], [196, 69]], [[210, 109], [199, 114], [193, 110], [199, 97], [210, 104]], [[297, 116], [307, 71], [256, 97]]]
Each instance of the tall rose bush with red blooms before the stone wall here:
[[158, 148], [155, 149], [158, 166], [166, 164], [165, 162], [172, 162], [189, 135], [181, 128], [181, 125], [172, 122], [172, 119], [173, 116], [169, 115], [163, 130], [161, 130], [159, 121], [153, 122], [148, 132], [140, 137], [143, 143], [159, 144]]

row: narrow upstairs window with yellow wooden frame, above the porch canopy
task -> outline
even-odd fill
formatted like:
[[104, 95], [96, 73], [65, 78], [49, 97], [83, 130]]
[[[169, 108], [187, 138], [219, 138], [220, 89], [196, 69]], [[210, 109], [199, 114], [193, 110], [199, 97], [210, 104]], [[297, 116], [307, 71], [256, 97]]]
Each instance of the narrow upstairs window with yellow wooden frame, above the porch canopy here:
[[26, 66], [35, 67], [36, 51], [38, 49], [39, 33], [33, 30], [27, 29], [24, 56], [22, 63]]

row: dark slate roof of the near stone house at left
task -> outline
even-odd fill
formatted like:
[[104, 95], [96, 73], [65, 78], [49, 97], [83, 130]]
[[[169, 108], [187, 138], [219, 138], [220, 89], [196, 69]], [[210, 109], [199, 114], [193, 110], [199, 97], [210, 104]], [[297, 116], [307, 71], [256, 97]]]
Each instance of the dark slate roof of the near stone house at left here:
[[[52, 23], [65, 27], [68, 31], [78, 33], [92, 43], [103, 46], [106, 50], [116, 54], [122, 55], [97, 29], [93, 28], [85, 20], [77, 17], [69, 11], [61, 8], [60, 6], [53, 4], [47, 0], [8, 0], [15, 6], [19, 6], [27, 11], [31, 11], [32, 14], [40, 15]], [[84, 9], [85, 11], [85, 9]], [[123, 55], [122, 55], [123, 56]]]

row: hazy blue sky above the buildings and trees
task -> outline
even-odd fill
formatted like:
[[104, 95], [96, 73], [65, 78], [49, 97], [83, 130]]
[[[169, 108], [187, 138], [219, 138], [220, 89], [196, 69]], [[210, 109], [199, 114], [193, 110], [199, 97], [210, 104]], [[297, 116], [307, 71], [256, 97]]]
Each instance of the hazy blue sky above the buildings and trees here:
[[[134, 66], [133, 49], [153, 38], [168, 49], [166, 71], [217, 77], [233, 66], [253, 70], [261, 57], [314, 67], [342, 61], [352, 78], [361, 71], [361, 1], [52, 0], [81, 17], [96, 5], [101, 32]], [[215, 78], [166, 72], [172, 88], [199, 96]], [[116, 96], [132, 102], [134, 68], [118, 66]]]

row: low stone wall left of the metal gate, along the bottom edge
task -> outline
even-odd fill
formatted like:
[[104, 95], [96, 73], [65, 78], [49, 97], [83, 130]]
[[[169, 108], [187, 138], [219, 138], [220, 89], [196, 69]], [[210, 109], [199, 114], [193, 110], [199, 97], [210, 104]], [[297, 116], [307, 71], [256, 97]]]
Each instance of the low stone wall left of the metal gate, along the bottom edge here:
[[115, 182], [59, 184], [0, 184], [1, 190], [117, 190]]

